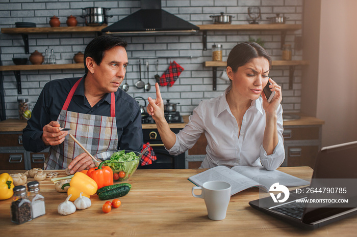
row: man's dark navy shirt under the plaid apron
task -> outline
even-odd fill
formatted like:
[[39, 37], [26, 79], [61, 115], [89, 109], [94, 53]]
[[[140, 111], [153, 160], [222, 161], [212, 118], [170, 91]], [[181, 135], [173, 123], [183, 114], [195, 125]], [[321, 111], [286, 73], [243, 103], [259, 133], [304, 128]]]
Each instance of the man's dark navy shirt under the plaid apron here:
[[[31, 119], [23, 129], [23, 147], [30, 152], [46, 149], [41, 139], [42, 128], [51, 121], [57, 121], [69, 91], [78, 78], [65, 78], [49, 81], [32, 110]], [[93, 107], [84, 96], [84, 79], [75, 90], [68, 110], [78, 113], [110, 116], [110, 93]], [[143, 146], [141, 112], [138, 103], [120, 88], [115, 92], [115, 115], [118, 131], [118, 150], [140, 152]]]

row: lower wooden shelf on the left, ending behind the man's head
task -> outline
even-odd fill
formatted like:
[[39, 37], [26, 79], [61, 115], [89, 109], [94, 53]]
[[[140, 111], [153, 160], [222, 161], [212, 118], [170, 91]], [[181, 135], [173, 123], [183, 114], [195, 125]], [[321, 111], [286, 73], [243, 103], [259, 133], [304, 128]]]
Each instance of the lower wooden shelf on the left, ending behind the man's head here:
[[83, 69], [84, 64], [41, 64], [41, 65], [10, 65], [0, 66], [0, 71], [30, 71], [30, 70], [56, 70], [56, 69]]

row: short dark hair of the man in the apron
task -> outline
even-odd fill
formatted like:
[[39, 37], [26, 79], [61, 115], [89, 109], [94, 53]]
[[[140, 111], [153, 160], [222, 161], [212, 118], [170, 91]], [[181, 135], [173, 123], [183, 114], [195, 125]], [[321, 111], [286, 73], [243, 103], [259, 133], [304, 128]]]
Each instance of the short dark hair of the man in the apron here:
[[86, 65], [87, 57], [93, 58], [96, 65], [100, 65], [107, 50], [114, 48], [115, 46], [122, 46], [125, 48], [126, 45], [127, 42], [118, 36], [103, 35], [94, 38], [91, 42], [89, 42], [86, 49], [84, 50], [85, 74], [87, 75], [88, 73], [88, 68]]

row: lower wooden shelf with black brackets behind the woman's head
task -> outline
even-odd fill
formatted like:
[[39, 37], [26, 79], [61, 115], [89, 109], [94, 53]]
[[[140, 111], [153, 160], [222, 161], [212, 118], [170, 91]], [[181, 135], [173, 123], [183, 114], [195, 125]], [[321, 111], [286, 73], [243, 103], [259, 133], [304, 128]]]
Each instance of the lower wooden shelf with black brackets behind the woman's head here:
[[[289, 90], [293, 88], [293, 76], [295, 66], [309, 65], [307, 60], [277, 60], [272, 61], [272, 66], [289, 66]], [[213, 74], [213, 91], [217, 90], [217, 67], [226, 67], [227, 62], [224, 61], [206, 61], [203, 62], [204, 67], [212, 67]]]

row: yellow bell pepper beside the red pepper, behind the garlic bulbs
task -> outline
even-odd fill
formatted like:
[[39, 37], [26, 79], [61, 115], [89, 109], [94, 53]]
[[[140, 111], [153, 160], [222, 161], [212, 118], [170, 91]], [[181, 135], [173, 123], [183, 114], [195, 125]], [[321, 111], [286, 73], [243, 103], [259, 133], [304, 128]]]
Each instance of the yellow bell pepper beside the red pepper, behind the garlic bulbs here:
[[80, 193], [83, 193], [82, 196], [89, 198], [90, 195], [93, 195], [98, 189], [97, 183], [95, 183], [95, 181], [87, 174], [82, 172], [74, 174], [69, 186], [70, 188], [67, 190], [67, 195], [69, 196], [69, 194], [72, 194], [69, 198], [70, 201], [79, 198]]

